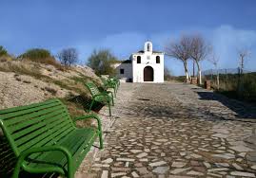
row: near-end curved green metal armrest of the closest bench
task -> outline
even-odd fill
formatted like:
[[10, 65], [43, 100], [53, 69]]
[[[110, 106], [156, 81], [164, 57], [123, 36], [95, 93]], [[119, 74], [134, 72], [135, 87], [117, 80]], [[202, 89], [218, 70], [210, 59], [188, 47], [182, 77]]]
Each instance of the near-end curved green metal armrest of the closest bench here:
[[[62, 146], [58, 146], [58, 145], [54, 145], [54, 146], [45, 146], [45, 147], [40, 147], [40, 148], [30, 148], [26, 151], [22, 151], [18, 157], [18, 161], [16, 163], [14, 172], [12, 174], [12, 177], [16, 178], [19, 176], [19, 172], [20, 172], [20, 167], [22, 166], [24, 160], [32, 153], [37, 153], [37, 152], [46, 152], [46, 151], [62, 151], [65, 156], [67, 157], [68, 160], [68, 177], [72, 177], [74, 174], [74, 167], [73, 167], [73, 163], [72, 163], [72, 156], [71, 153], [69, 152], [69, 150], [67, 150], [66, 148], [62, 147]], [[35, 169], [35, 168], [29, 168], [26, 167], [24, 165], [25, 169], [30, 170], [31, 172], [53, 172], [53, 171], [58, 171], [59, 173], [65, 173], [65, 170], [60, 169], [58, 167], [48, 167], [48, 168], [42, 168], [42, 169]]]

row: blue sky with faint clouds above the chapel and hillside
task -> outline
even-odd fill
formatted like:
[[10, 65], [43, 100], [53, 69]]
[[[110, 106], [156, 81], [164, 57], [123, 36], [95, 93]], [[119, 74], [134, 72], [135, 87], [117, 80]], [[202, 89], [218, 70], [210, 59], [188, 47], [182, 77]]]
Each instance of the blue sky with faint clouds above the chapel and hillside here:
[[[85, 63], [93, 49], [108, 48], [123, 60], [147, 40], [163, 50], [183, 34], [201, 33], [220, 68], [237, 67], [237, 50], [247, 48], [246, 68], [256, 70], [255, 0], [0, 0], [0, 17], [0, 45], [15, 55], [76, 47]], [[183, 75], [181, 62], [166, 57], [165, 63]]]

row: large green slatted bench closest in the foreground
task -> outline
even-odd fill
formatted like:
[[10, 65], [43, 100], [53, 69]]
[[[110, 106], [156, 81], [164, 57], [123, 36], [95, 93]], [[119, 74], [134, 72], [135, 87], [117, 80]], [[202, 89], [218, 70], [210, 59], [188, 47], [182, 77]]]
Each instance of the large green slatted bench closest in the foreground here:
[[97, 120], [97, 129], [76, 128], [59, 99], [0, 110], [0, 126], [17, 157], [12, 177], [17, 178], [21, 169], [74, 177], [97, 136], [103, 149], [100, 118], [89, 115], [74, 120], [89, 118]]

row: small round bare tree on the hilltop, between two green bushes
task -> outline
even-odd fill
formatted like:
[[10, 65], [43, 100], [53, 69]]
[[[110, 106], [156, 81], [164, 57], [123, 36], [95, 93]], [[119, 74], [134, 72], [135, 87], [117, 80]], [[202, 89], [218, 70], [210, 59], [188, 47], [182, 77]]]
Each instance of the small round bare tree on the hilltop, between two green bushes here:
[[57, 58], [62, 64], [70, 66], [71, 64], [78, 62], [78, 52], [75, 48], [72, 47], [62, 49], [57, 54]]

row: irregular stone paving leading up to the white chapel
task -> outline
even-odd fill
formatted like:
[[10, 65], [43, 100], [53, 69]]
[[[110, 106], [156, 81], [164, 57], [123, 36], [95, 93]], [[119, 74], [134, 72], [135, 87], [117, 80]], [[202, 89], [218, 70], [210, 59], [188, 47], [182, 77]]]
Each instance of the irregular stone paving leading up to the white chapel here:
[[122, 83], [105, 149], [76, 175], [256, 177], [255, 111], [193, 85]]

